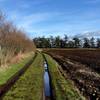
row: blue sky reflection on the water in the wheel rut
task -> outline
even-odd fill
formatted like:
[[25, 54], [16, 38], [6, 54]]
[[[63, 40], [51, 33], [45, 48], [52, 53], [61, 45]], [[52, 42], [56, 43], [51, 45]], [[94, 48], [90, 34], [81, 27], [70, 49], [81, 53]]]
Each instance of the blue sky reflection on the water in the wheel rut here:
[[45, 68], [45, 73], [44, 73], [44, 86], [45, 86], [45, 96], [50, 96], [50, 78], [48, 74], [48, 65], [46, 62], [44, 62], [44, 68]]

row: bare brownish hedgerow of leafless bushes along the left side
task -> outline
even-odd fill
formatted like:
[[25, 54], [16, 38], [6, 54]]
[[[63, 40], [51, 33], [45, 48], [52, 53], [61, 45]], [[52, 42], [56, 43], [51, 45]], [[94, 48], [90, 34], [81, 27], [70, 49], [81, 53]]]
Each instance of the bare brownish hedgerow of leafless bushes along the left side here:
[[26, 37], [25, 32], [17, 29], [0, 13], [0, 65], [6, 64], [19, 53], [34, 50], [34, 43]]

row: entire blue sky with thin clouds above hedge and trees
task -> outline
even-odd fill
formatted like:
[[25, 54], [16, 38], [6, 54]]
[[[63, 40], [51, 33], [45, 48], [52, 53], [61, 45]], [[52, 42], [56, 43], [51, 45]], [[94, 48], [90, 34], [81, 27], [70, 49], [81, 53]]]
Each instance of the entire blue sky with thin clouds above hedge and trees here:
[[0, 9], [31, 38], [100, 31], [100, 0], [0, 0]]

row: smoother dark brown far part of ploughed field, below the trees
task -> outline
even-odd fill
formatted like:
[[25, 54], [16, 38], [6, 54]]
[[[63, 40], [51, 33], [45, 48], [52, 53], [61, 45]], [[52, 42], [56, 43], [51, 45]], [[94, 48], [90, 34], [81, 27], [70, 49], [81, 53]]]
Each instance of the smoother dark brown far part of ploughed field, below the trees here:
[[86, 64], [100, 72], [100, 49], [47, 49], [46, 51]]

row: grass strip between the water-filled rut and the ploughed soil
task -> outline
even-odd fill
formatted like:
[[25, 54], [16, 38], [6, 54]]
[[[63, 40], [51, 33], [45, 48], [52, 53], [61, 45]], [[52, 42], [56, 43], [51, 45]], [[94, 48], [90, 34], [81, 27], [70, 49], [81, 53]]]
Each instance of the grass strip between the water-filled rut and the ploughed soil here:
[[58, 64], [49, 55], [45, 54], [50, 77], [53, 87], [53, 93], [56, 100], [85, 100], [73, 86], [72, 82], [62, 76], [58, 69]]

